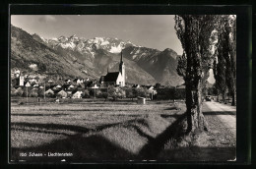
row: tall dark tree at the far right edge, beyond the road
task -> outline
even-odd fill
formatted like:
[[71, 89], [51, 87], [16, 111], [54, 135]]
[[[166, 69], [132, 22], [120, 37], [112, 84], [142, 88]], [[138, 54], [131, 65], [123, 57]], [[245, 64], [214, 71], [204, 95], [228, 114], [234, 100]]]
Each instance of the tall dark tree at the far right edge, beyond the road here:
[[236, 18], [221, 16], [219, 21], [218, 53], [214, 62], [214, 75], [218, 90], [224, 94], [228, 88], [235, 105], [236, 90]]

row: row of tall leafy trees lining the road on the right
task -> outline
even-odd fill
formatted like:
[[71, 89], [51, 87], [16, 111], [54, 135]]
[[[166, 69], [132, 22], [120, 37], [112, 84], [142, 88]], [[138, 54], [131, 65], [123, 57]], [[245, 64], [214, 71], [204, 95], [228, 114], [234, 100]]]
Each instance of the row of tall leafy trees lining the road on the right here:
[[[177, 73], [186, 85], [187, 132], [207, 130], [208, 124], [202, 113], [202, 90], [210, 69], [214, 69], [219, 90], [222, 83], [230, 89], [235, 88], [235, 17], [176, 15], [174, 20], [183, 48]], [[229, 84], [223, 81], [224, 78], [230, 80]]]

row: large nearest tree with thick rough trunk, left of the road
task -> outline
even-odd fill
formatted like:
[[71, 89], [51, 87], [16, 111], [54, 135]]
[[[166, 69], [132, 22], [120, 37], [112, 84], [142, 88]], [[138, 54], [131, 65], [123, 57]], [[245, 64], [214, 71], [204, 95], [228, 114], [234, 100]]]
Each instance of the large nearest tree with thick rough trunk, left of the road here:
[[187, 132], [207, 130], [202, 113], [202, 88], [214, 61], [218, 16], [181, 15], [174, 19], [183, 57], [186, 56], [185, 71], [178, 71], [178, 74], [183, 75], [186, 84]]

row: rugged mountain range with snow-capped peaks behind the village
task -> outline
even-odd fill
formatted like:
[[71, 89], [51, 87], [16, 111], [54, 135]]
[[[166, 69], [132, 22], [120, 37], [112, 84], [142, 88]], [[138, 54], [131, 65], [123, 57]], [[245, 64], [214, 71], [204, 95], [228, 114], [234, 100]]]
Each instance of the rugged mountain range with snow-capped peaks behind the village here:
[[98, 80], [118, 71], [120, 52], [130, 84], [178, 85], [183, 80], [176, 73], [177, 53], [133, 44], [113, 37], [86, 39], [71, 36], [46, 39], [11, 26], [11, 71], [30, 74]]

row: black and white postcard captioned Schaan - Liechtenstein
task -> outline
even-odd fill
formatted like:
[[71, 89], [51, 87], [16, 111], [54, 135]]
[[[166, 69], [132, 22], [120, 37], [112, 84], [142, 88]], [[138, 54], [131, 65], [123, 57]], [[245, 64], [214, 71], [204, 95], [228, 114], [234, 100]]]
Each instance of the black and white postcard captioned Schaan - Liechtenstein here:
[[10, 162], [235, 163], [237, 18], [11, 14]]

